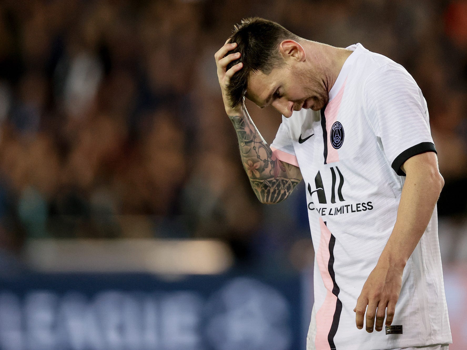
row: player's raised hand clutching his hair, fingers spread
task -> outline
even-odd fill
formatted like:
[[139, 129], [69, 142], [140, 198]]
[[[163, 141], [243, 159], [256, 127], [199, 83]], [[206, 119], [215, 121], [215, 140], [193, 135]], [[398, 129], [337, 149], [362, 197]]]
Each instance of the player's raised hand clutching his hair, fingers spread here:
[[[230, 78], [239, 70], [242, 69], [243, 63], [237, 63], [229, 70], [226, 70], [227, 65], [232, 61], [238, 60], [240, 58], [240, 52], [232, 53], [227, 55], [227, 52], [235, 49], [237, 47], [237, 43], [233, 42], [228, 44], [227, 42], [230, 41], [230, 38], [226, 41], [224, 46], [222, 46], [219, 51], [217, 51], [214, 55], [216, 59], [217, 65], [217, 76], [219, 78], [219, 85], [220, 90], [222, 91], [222, 99], [224, 100], [224, 107], [226, 108], [226, 113], [229, 116], [233, 115], [241, 115], [241, 106], [236, 108], [232, 108], [230, 105], [230, 101], [227, 95], [227, 85], [230, 82]], [[224, 57], [225, 56], [225, 57]]]

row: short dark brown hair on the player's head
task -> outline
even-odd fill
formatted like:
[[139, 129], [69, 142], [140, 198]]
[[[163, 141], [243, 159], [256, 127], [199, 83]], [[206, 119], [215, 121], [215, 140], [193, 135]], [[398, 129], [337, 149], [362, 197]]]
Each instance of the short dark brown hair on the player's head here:
[[301, 38], [280, 24], [260, 17], [246, 18], [234, 26], [229, 42], [236, 42], [237, 46], [227, 52], [226, 56], [234, 52], [240, 52], [241, 56], [229, 63], [226, 70], [240, 62], [243, 67], [233, 75], [227, 86], [232, 108], [241, 105], [252, 73], [262, 71], [268, 75], [274, 68], [284, 64], [279, 44], [286, 39], [298, 42]]

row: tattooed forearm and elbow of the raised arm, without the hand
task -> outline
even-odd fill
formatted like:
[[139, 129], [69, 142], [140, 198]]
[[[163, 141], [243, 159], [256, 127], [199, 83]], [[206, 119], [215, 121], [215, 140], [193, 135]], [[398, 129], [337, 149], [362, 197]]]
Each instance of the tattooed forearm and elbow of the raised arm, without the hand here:
[[251, 187], [262, 203], [279, 203], [287, 198], [302, 180], [300, 170], [283, 163], [272, 154], [246, 108], [243, 115], [229, 116], [237, 132], [243, 167]]

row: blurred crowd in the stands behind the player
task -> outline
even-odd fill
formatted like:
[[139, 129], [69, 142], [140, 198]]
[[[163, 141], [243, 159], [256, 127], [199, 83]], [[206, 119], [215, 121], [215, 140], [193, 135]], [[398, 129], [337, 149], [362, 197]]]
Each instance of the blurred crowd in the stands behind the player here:
[[[221, 238], [248, 259], [308, 237], [303, 188], [278, 207], [256, 200], [222, 105], [214, 53], [255, 15], [334, 46], [361, 42], [409, 70], [446, 180], [439, 215], [458, 243], [467, 1], [3, 0], [0, 247], [42, 237]], [[248, 108], [271, 142], [280, 115]], [[449, 256], [460, 254], [454, 243]]]

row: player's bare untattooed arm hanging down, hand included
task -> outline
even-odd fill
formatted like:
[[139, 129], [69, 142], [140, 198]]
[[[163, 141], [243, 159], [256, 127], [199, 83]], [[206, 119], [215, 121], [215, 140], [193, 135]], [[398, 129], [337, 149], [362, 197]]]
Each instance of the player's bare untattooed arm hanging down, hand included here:
[[354, 309], [357, 328], [362, 329], [368, 305], [367, 332], [373, 331], [375, 316], [375, 329], [382, 330], [386, 308], [386, 326], [392, 323], [402, 287], [403, 269], [430, 222], [444, 185], [444, 179], [439, 174], [438, 158], [433, 152], [409, 158], [401, 169], [406, 174], [406, 180], [397, 209], [396, 224]]

